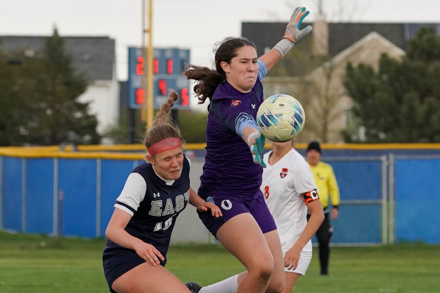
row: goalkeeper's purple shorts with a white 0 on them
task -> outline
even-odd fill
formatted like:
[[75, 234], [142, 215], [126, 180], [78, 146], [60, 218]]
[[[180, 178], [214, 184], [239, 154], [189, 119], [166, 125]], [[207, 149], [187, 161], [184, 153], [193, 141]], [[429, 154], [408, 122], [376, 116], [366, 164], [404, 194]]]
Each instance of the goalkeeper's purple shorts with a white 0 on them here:
[[250, 213], [255, 221], [257, 221], [263, 234], [276, 230], [275, 220], [264, 201], [264, 195], [261, 191], [246, 198], [238, 198], [230, 195], [199, 196], [207, 202], [216, 204], [223, 214], [223, 217], [216, 218], [211, 215], [210, 210], [197, 212], [200, 220], [202, 220], [205, 227], [214, 237], [216, 237], [217, 230], [221, 225], [240, 213]]

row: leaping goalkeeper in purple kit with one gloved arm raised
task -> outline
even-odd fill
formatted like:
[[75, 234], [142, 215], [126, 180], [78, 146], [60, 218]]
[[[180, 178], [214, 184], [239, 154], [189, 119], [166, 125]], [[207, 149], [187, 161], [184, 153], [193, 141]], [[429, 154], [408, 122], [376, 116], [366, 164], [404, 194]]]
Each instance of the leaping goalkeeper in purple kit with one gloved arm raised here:
[[279, 43], [260, 58], [255, 45], [245, 38], [228, 37], [215, 50], [215, 70], [189, 65], [184, 74], [197, 80], [199, 103], [210, 100], [206, 127], [206, 156], [198, 195], [220, 207], [223, 217], [213, 219], [199, 212], [206, 228], [247, 271], [201, 288], [200, 293], [281, 292], [284, 261], [279, 235], [260, 191], [264, 137], [255, 122], [263, 102], [261, 79], [306, 36], [300, 30], [309, 12], [297, 7]]

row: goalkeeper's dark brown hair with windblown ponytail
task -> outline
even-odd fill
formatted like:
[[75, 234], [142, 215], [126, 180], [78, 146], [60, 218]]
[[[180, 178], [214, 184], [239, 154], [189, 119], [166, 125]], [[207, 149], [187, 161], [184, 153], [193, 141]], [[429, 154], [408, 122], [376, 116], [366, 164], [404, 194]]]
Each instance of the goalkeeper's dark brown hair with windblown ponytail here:
[[226, 73], [220, 63], [225, 61], [231, 63], [231, 59], [237, 56], [237, 50], [244, 46], [251, 46], [257, 51], [254, 43], [244, 37], [227, 37], [217, 42], [213, 51], [215, 54], [215, 69], [204, 66], [188, 65], [183, 72], [188, 80], [197, 80], [194, 86], [194, 95], [198, 97], [198, 103], [203, 104], [207, 98], [211, 99], [218, 85], [226, 80]]

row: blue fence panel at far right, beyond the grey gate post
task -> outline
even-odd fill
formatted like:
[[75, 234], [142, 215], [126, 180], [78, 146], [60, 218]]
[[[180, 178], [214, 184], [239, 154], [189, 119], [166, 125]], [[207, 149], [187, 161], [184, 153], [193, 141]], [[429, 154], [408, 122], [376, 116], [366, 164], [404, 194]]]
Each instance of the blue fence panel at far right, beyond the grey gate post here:
[[396, 240], [440, 243], [440, 159], [396, 159]]

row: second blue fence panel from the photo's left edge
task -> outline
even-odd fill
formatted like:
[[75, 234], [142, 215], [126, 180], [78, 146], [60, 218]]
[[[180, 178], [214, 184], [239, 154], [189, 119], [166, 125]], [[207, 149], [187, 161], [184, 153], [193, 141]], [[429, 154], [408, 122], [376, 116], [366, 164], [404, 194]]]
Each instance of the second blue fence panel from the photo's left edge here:
[[54, 159], [26, 159], [26, 232], [53, 233]]

